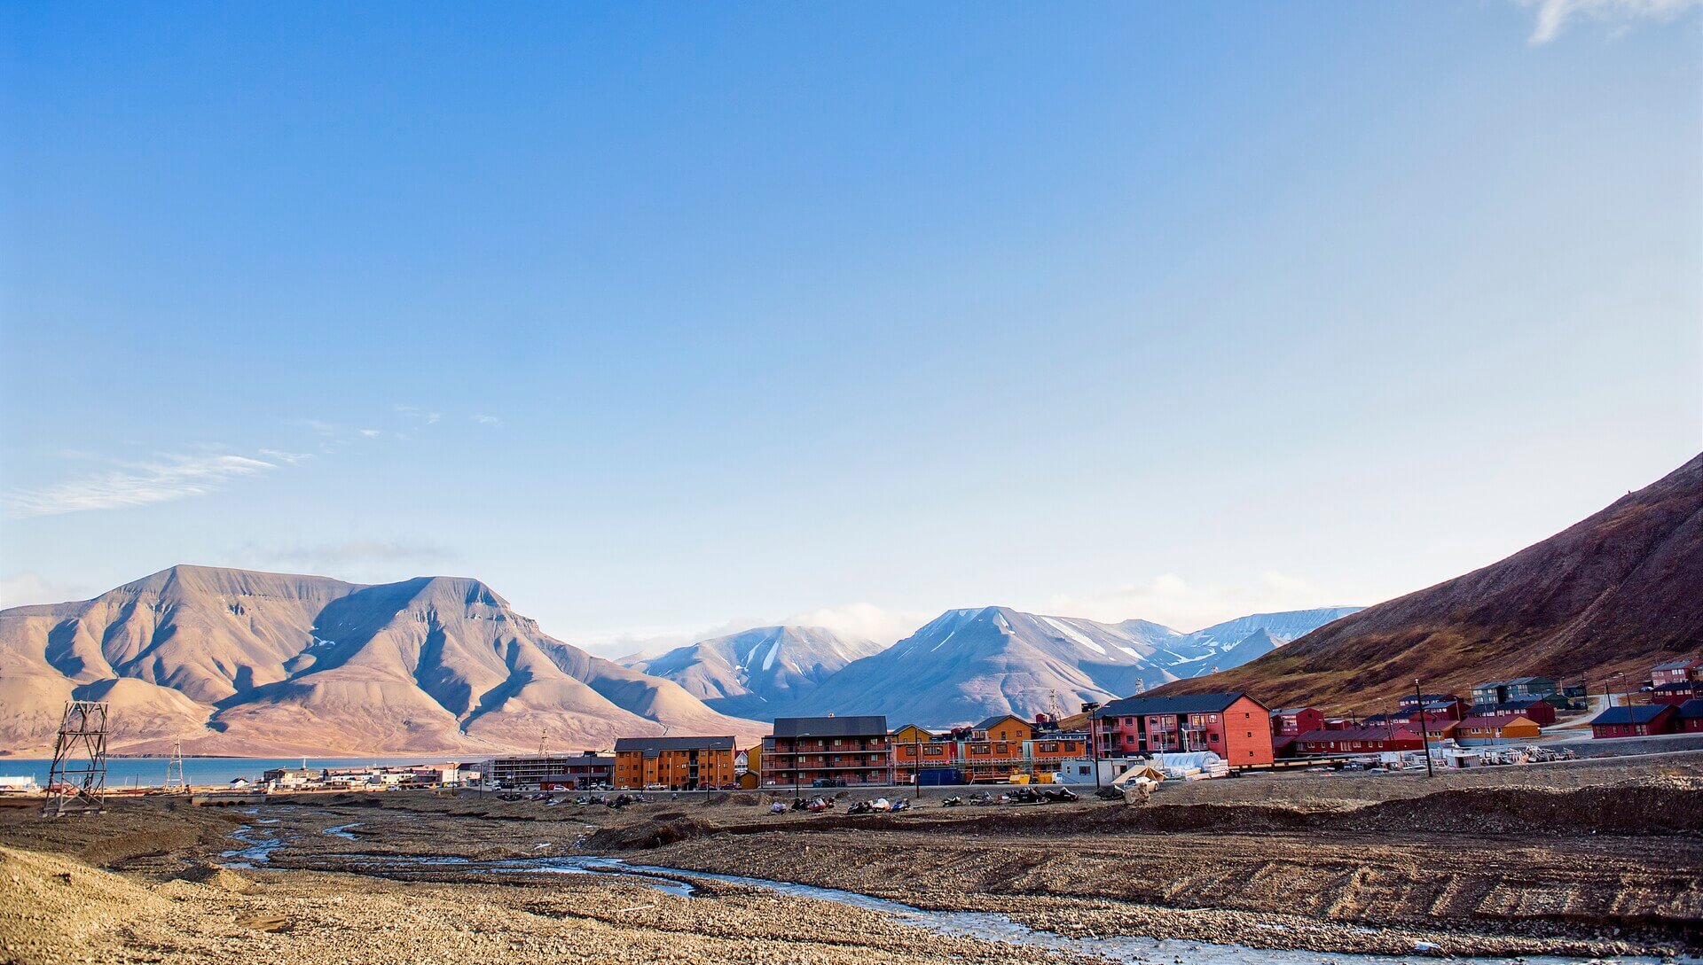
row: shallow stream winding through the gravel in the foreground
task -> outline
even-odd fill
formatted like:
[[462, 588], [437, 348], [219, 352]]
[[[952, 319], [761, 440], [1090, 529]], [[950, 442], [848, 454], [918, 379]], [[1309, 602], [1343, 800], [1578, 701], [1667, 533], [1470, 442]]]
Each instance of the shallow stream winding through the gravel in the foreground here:
[[[339, 837], [354, 839], [349, 834], [349, 827], [341, 825], [325, 829], [325, 834], [337, 834]], [[271, 861], [272, 851], [281, 848], [284, 842], [257, 832], [255, 829], [245, 825], [237, 834], [238, 841], [247, 844], [247, 848], [225, 851], [225, 858], [235, 858], [230, 868], [254, 868], [255, 865], [264, 865]], [[744, 875], [719, 875], [714, 871], [688, 871], [683, 868], [668, 868], [662, 865], [634, 865], [622, 861], [620, 858], [601, 858], [593, 854], [540, 854], [536, 858], [506, 858], [496, 861], [472, 861], [468, 858], [455, 856], [414, 856], [414, 854], [337, 854], [341, 863], [354, 865], [356, 870], [363, 871], [381, 871], [381, 870], [402, 870], [402, 868], [458, 868], [465, 873], [521, 873], [521, 871], [542, 871], [555, 875], [628, 875], [628, 880], [640, 882], [659, 892], [690, 899], [697, 894], [691, 882], [722, 882], [729, 885], [746, 885], [753, 888], [763, 888], [783, 895], [794, 895], [800, 899], [816, 899], [824, 902], [836, 902], [843, 905], [860, 907], [874, 912], [886, 914], [904, 924], [928, 929], [935, 934], [962, 936], [962, 938], [981, 938], [988, 941], [1003, 941], [1006, 945], [1020, 945], [1024, 948], [1034, 950], [1051, 950], [1051, 951], [1075, 951], [1081, 955], [1093, 955], [1110, 962], [1182, 962], [1187, 965], [1395, 965], [1405, 963], [1413, 958], [1413, 955], [1424, 955], [1424, 948], [1415, 948], [1413, 955], [1357, 955], [1344, 951], [1282, 951], [1267, 948], [1250, 948], [1245, 945], [1213, 945], [1206, 941], [1187, 941], [1187, 939], [1160, 939], [1160, 938], [1141, 938], [1141, 936], [1115, 936], [1115, 938], [1071, 938], [1068, 934], [1059, 934], [1054, 931], [1039, 931], [1025, 924], [1013, 921], [1010, 916], [998, 912], [955, 912], [955, 911], [930, 911], [908, 905], [903, 902], [894, 902], [887, 899], [877, 899], [874, 895], [865, 895], [860, 892], [846, 892], [840, 888], [821, 888], [816, 885], [800, 885], [795, 882], [771, 882], [768, 878], [749, 878]], [[370, 868], [364, 868], [370, 865]], [[666, 876], [661, 876], [666, 875]], [[1603, 958], [1567, 958], [1567, 956], [1550, 956], [1550, 955], [1522, 955], [1517, 958], [1507, 956], [1451, 956], [1454, 962], [1470, 962], [1473, 965], [1585, 965], [1596, 962], [1618, 962], [1625, 965], [1657, 965], [1664, 962], [1662, 958], [1652, 956], [1616, 956], [1609, 960]], [[1686, 965], [1703, 965], [1703, 958], [1683, 956], [1672, 962], [1681, 962]]]

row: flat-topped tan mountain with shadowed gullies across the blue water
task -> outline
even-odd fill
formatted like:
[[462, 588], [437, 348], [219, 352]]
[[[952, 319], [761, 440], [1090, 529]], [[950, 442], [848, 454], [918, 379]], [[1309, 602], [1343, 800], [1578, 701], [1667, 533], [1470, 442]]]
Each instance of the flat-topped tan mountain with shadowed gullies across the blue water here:
[[754, 737], [673, 681], [562, 643], [472, 579], [359, 585], [172, 567], [85, 602], [0, 611], [0, 747], [51, 747], [70, 696], [114, 751], [489, 752], [622, 735]]

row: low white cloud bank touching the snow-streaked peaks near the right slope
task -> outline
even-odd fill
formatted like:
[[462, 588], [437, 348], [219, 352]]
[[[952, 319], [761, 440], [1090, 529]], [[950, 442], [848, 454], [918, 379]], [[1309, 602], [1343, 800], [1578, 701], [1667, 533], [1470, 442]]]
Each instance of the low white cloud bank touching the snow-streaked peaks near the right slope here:
[[1281, 613], [1315, 606], [1350, 606], [1376, 601], [1344, 601], [1301, 577], [1267, 570], [1240, 584], [1190, 584], [1177, 574], [1161, 574], [1100, 587], [1083, 594], [1054, 596], [1047, 608], [1059, 616], [1085, 616], [1102, 623], [1151, 620], [1185, 633], [1250, 613]]

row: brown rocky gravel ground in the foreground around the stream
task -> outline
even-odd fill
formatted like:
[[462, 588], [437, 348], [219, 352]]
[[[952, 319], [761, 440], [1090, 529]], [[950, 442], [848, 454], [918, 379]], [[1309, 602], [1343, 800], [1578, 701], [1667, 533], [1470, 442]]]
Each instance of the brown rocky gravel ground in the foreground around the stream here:
[[[53, 822], [0, 808], [0, 962], [1037, 958], [744, 885], [698, 882], [686, 899], [639, 875], [477, 870], [576, 853], [1003, 912], [1069, 936], [1703, 951], [1703, 756], [1432, 781], [1236, 778], [1163, 788], [1146, 808], [945, 808], [940, 797], [894, 817], [777, 817], [754, 793], [620, 810], [303, 795], [259, 814], [153, 798]], [[230, 837], [244, 827], [284, 846], [254, 870], [223, 868], [240, 859], [221, 853], [244, 848]]]

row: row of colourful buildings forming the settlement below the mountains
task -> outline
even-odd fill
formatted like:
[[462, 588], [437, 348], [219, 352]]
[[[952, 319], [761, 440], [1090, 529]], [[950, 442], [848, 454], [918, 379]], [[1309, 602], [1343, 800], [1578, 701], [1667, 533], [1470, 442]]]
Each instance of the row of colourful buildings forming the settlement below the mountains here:
[[[1599, 740], [1703, 734], [1703, 659], [1650, 669], [1638, 691], [1608, 694], [1589, 720]], [[1638, 698], [1649, 703], [1637, 703]], [[1247, 693], [1138, 694], [1083, 713], [989, 717], [969, 727], [889, 728], [880, 715], [782, 717], [749, 747], [734, 735], [620, 737], [613, 751], [513, 754], [480, 762], [274, 768], [254, 791], [479, 786], [502, 791], [707, 791], [950, 785], [1098, 785], [1143, 768], [1189, 779], [1231, 771], [1339, 762], [1446, 768], [1553, 757], [1545, 728], [1587, 708], [1585, 689], [1553, 677], [1487, 681], [1470, 699], [1413, 693], [1373, 715], [1316, 706], [1269, 710]], [[1580, 725], [1582, 737], [1582, 725]], [[1562, 751], [1560, 754], [1567, 754]], [[0, 795], [34, 781], [0, 778]]]

